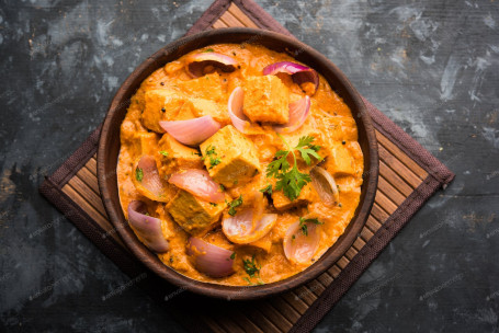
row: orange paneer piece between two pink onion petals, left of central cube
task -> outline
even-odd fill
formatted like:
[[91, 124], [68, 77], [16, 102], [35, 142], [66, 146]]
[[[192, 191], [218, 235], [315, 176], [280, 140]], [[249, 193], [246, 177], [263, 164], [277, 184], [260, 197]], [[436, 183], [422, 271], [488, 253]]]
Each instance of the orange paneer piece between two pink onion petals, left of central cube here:
[[169, 134], [165, 134], [159, 140], [157, 150], [163, 152], [159, 153], [161, 161], [159, 173], [161, 176], [180, 170], [203, 168], [203, 161], [197, 150], [180, 143]]

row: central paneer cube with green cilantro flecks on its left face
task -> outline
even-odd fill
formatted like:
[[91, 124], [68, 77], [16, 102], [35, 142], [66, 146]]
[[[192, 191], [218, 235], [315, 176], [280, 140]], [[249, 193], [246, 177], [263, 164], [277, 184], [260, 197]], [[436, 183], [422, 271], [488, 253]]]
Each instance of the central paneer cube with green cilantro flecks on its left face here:
[[200, 149], [209, 175], [226, 187], [247, 183], [261, 172], [254, 145], [233, 125], [219, 129]]

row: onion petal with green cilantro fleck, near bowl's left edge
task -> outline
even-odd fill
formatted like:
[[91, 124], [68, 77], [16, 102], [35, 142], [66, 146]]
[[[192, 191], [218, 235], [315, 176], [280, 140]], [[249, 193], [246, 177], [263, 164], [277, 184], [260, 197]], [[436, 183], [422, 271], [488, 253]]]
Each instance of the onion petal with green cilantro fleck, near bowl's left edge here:
[[154, 157], [149, 154], [141, 156], [133, 172], [132, 181], [141, 195], [155, 202], [168, 200], [163, 196], [166, 184], [161, 181]]

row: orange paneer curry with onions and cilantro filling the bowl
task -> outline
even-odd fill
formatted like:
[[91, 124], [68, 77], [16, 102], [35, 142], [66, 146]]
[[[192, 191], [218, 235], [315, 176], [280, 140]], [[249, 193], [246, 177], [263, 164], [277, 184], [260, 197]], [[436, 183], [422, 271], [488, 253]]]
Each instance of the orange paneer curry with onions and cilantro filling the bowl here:
[[285, 279], [343, 233], [363, 154], [348, 105], [314, 69], [252, 44], [150, 74], [121, 125], [120, 199], [165, 265], [231, 286]]

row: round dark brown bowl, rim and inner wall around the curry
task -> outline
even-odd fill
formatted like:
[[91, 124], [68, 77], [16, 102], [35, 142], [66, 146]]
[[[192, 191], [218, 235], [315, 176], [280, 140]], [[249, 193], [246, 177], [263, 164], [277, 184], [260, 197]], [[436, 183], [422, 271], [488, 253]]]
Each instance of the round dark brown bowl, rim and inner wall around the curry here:
[[[217, 43], [253, 43], [276, 51], [286, 51], [295, 59], [320, 72], [351, 108], [359, 128], [359, 142], [364, 153], [364, 184], [355, 215], [339, 240], [311, 266], [287, 279], [253, 287], [233, 287], [202, 283], [163, 265], [155, 253], [138, 241], [128, 227], [120, 205], [116, 162], [120, 152], [120, 125], [129, 99], [140, 83], [156, 69], [196, 48]], [[325, 56], [292, 37], [253, 28], [219, 28], [180, 38], [146, 59], [122, 84], [114, 96], [102, 127], [98, 152], [99, 187], [107, 216], [123, 242], [147, 267], [167, 282], [190, 291], [215, 298], [248, 300], [268, 297], [305, 284], [337, 262], [352, 245], [367, 220], [376, 193], [378, 176], [377, 142], [367, 110], [347, 77]]]

